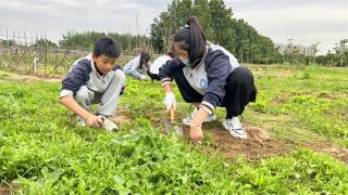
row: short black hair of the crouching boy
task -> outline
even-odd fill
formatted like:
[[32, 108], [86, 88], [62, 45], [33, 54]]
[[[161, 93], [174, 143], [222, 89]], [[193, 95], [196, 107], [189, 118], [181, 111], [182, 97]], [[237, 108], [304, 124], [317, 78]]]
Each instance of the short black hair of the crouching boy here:
[[117, 58], [121, 55], [121, 48], [117, 42], [111, 38], [103, 37], [97, 40], [94, 49], [97, 56], [107, 55], [108, 57]]

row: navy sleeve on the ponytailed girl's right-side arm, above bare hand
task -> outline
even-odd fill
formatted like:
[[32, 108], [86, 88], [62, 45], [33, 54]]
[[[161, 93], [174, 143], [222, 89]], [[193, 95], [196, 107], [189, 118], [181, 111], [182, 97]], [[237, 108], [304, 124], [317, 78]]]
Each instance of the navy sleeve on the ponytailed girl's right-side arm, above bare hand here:
[[227, 55], [220, 51], [213, 54], [206, 61], [208, 89], [202, 102], [208, 102], [214, 107], [220, 106], [225, 96], [225, 86], [227, 78], [232, 73], [232, 66]]

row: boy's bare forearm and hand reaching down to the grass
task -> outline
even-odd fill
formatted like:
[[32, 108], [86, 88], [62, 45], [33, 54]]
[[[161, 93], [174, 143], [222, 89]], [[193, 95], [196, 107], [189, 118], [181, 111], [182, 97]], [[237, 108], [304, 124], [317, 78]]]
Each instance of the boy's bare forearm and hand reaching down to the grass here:
[[62, 96], [60, 103], [66, 106], [71, 112], [75, 113], [76, 115], [83, 117], [88, 126], [90, 127], [101, 127], [102, 120], [101, 118], [97, 117], [96, 115], [90, 114], [86, 109], [84, 109], [78, 103], [74, 100], [74, 98], [67, 95]]

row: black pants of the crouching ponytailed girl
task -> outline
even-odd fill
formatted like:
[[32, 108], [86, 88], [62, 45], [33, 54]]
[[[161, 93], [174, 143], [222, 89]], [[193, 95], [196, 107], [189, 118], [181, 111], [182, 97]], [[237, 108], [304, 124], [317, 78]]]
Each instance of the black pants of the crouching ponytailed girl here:
[[[199, 103], [203, 95], [198, 93], [186, 80], [183, 70], [176, 72], [173, 78], [182, 93], [185, 102]], [[226, 118], [241, 115], [249, 102], [254, 102], [257, 88], [254, 87], [253, 76], [248, 68], [237, 67], [227, 78], [225, 86], [225, 96], [221, 107], [226, 107]]]

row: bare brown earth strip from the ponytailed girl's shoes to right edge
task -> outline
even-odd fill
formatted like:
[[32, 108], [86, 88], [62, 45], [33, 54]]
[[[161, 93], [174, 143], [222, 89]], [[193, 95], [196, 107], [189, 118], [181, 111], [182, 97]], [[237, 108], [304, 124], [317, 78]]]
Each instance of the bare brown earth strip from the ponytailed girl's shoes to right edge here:
[[[162, 133], [165, 133], [164, 121], [151, 119], [154, 125], [161, 125]], [[189, 140], [189, 128], [181, 126], [184, 138]], [[348, 164], [348, 150], [333, 146], [325, 142], [297, 143], [291, 140], [277, 140], [270, 136], [268, 131], [258, 127], [246, 127], [248, 139], [240, 140], [233, 138], [222, 127], [206, 128], [204, 133], [212, 138], [210, 144], [204, 144], [203, 150], [208, 153], [220, 153], [228, 159], [244, 156], [249, 160], [258, 160], [270, 156], [285, 155], [301, 146], [319, 153], [326, 153]]]

